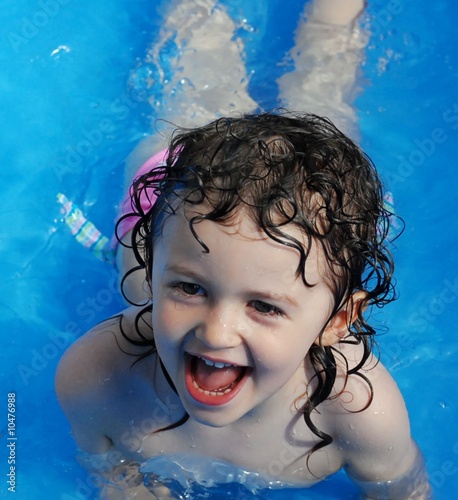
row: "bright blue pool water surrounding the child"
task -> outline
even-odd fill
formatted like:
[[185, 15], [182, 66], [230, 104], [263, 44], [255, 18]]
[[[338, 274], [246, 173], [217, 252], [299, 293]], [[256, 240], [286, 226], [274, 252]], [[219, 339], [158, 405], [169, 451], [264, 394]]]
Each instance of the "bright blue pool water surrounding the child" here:
[[[110, 234], [123, 161], [150, 132], [152, 111], [128, 82], [144, 60], [166, 2], [5, 0], [0, 11], [0, 496], [8, 459], [15, 498], [95, 498], [75, 462], [53, 377], [65, 347], [122, 303], [108, 264], [77, 245], [56, 194], [77, 201]], [[275, 106], [276, 61], [292, 45], [303, 2], [225, 0], [240, 21], [250, 90]], [[248, 6], [246, 5], [248, 4]], [[380, 338], [411, 414], [437, 499], [458, 493], [458, 6], [369, 1], [373, 30], [361, 140], [396, 199], [406, 231], [395, 251], [400, 299]], [[243, 23], [242, 19], [246, 18]], [[263, 57], [259, 57], [262, 53]], [[8, 394], [15, 421], [8, 429]], [[15, 449], [7, 447], [8, 430]], [[11, 442], [10, 442], [11, 443]], [[9, 496], [8, 496], [9, 495]], [[236, 493], [234, 498], [245, 498]], [[357, 498], [344, 475], [269, 498]]]

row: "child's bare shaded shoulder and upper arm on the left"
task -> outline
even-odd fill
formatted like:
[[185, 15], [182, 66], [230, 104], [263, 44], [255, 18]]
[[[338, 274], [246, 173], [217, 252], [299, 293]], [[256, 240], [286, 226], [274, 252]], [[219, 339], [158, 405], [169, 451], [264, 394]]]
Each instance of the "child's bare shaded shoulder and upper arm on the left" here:
[[85, 451], [103, 453], [112, 446], [105, 427], [113, 402], [135, 376], [135, 356], [145, 352], [123, 336], [134, 335], [134, 321], [135, 311], [127, 309], [100, 323], [74, 342], [58, 365], [57, 397]]

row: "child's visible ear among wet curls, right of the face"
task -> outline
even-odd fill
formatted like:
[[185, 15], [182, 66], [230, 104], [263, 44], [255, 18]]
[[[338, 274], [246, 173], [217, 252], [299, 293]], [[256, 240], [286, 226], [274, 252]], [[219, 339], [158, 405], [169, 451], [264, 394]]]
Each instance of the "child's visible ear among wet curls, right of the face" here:
[[355, 292], [331, 318], [321, 337], [315, 344], [331, 346], [348, 335], [349, 327], [356, 321], [363, 306], [366, 292]]

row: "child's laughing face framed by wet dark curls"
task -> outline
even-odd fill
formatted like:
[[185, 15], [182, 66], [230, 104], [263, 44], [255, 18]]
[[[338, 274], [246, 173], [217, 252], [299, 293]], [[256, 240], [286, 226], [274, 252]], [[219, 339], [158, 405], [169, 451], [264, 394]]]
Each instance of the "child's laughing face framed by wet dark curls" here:
[[186, 411], [220, 427], [292, 404], [306, 390], [307, 353], [334, 307], [323, 257], [313, 246], [306, 278], [314, 286], [306, 287], [297, 251], [246, 213], [231, 225], [194, 228], [210, 252], [180, 209], [154, 243], [152, 273], [155, 341]]

